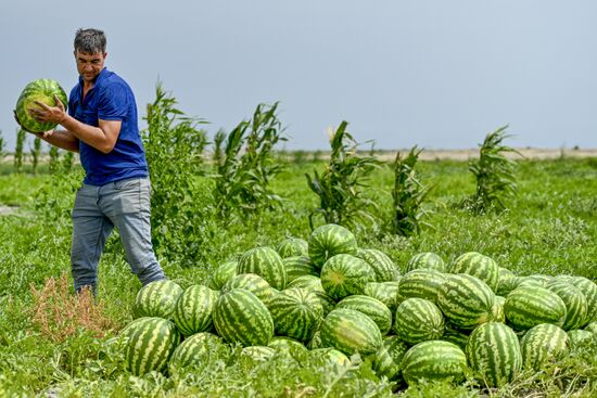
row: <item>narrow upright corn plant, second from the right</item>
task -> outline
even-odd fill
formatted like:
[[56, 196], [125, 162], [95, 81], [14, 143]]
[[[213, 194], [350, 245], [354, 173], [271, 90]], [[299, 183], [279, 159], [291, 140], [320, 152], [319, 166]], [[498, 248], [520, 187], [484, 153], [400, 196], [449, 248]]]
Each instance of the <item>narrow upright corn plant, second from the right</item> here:
[[428, 215], [423, 203], [431, 189], [424, 187], [415, 172], [415, 165], [421, 152], [422, 150], [417, 150], [417, 146], [414, 146], [406, 157], [402, 157], [398, 152], [393, 163], [393, 215], [390, 230], [394, 234], [410, 236], [420, 233], [422, 226], [430, 226], [422, 221], [422, 218]]

